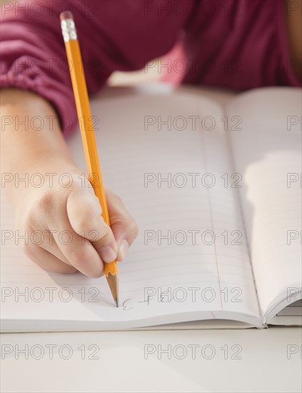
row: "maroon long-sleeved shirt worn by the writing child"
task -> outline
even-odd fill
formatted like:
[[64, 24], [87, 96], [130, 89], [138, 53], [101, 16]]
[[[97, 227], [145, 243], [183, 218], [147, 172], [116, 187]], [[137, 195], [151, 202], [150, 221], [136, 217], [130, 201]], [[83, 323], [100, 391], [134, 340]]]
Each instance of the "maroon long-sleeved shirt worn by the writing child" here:
[[1, 6], [0, 86], [44, 96], [64, 131], [77, 124], [59, 20], [66, 9], [74, 14], [90, 93], [113, 71], [142, 69], [173, 47], [159, 65], [166, 81], [236, 90], [301, 86], [283, 0], [10, 1]]

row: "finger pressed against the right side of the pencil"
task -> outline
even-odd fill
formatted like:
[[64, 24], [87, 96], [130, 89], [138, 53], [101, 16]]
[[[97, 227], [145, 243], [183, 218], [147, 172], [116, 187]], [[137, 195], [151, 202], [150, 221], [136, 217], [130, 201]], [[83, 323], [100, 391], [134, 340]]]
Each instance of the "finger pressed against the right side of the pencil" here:
[[111, 221], [111, 230], [114, 233], [119, 249], [117, 260], [123, 261], [129, 246], [131, 246], [139, 233], [139, 228], [116, 194], [106, 190], [106, 198]]

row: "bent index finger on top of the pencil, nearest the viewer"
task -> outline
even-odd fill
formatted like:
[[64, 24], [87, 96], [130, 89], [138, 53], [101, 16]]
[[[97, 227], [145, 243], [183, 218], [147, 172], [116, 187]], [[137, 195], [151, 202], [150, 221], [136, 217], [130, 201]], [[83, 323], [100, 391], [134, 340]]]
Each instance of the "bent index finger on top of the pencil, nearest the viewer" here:
[[102, 261], [114, 261], [117, 255], [117, 244], [111, 228], [101, 217], [101, 206], [93, 189], [77, 188], [71, 191], [67, 199], [66, 210], [74, 232], [94, 244]]

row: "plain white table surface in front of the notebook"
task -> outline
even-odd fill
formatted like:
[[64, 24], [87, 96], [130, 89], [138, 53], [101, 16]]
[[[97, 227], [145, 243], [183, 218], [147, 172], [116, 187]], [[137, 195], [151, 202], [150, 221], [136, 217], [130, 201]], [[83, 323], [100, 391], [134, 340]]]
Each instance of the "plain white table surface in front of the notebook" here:
[[299, 327], [1, 334], [0, 390], [301, 392], [301, 344]]

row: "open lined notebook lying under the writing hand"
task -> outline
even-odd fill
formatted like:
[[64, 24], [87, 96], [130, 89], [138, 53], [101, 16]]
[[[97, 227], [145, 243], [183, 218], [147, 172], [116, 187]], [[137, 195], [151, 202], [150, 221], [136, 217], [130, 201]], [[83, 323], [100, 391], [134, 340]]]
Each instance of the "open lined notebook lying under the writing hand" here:
[[[45, 272], [2, 239], [2, 329], [301, 324], [301, 90], [256, 89], [226, 106], [137, 91], [91, 109], [105, 184], [140, 229], [119, 264], [120, 307], [104, 277]], [[86, 171], [79, 132], [68, 144]], [[3, 197], [2, 232], [13, 216]]]

